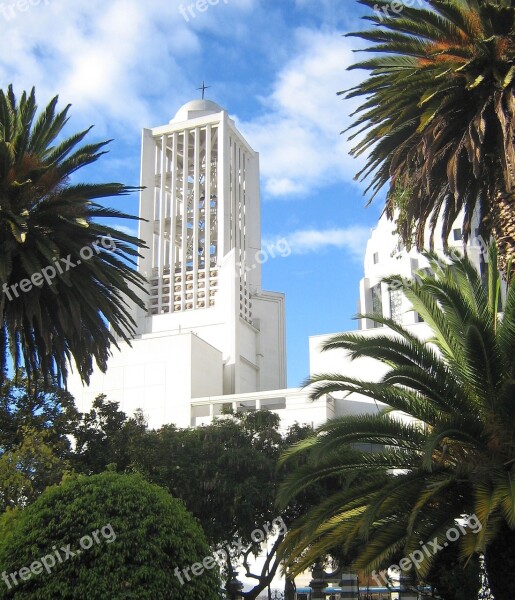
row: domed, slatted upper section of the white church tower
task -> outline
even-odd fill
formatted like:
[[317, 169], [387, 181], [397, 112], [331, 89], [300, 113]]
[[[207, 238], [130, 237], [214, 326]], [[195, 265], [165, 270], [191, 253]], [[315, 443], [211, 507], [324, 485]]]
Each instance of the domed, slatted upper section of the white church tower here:
[[252, 260], [260, 248], [259, 158], [232, 120], [214, 102], [194, 100], [168, 125], [145, 130], [141, 180], [139, 235], [150, 250], [139, 269], [151, 284], [148, 315], [227, 302], [220, 270], [232, 253], [239, 313], [251, 323], [251, 294], [261, 286]]

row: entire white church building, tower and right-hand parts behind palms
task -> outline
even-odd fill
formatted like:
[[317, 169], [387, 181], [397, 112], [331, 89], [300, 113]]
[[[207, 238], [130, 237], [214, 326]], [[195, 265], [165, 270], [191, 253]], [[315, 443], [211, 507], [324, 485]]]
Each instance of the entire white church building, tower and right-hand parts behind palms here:
[[[167, 125], [145, 129], [141, 186], [139, 237], [148, 250], [138, 270], [148, 280], [146, 309], [133, 308], [135, 339], [130, 346], [120, 340], [105, 374], [97, 369], [87, 387], [70, 377], [79, 410], [105, 394], [128, 415], [142, 409], [151, 428], [206, 424], [226, 409], [271, 410], [283, 427], [380, 410], [364, 397], [312, 401], [307, 390], [286, 388], [285, 299], [261, 286], [259, 155], [226, 110], [193, 100]], [[382, 217], [371, 231], [359, 312], [393, 317], [427, 338], [402, 294], [382, 282], [427, 266], [399, 244], [394, 227]], [[452, 238], [451, 247], [462, 248], [458, 227]], [[467, 251], [481, 268], [477, 237]], [[364, 335], [374, 326], [359, 321]], [[309, 339], [311, 375], [382, 375], [375, 361], [351, 364], [343, 352], [322, 353], [328, 337]]]

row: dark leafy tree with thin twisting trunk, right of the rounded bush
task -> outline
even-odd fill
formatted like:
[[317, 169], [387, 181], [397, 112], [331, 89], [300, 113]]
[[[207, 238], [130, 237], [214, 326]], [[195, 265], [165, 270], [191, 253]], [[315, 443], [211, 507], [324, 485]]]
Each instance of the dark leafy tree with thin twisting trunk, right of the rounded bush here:
[[[166, 426], [149, 434], [139, 462], [134, 463], [146, 478], [184, 501], [213, 548], [229, 546], [226, 579], [232, 578], [235, 564], [241, 561], [246, 576], [255, 581], [243, 593], [247, 600], [257, 598], [277, 573], [281, 564], [277, 549], [288, 524], [323, 493], [322, 486], [315, 487], [277, 510], [281, 452], [312, 433], [309, 426], [295, 425], [281, 434], [279, 421], [269, 411], [251, 411], [228, 414], [195, 429]], [[267, 534], [266, 527], [274, 523], [279, 535], [265, 564], [256, 571], [252, 557], [259, 554], [262, 543], [261, 535], [254, 534], [253, 539], [253, 533]]]

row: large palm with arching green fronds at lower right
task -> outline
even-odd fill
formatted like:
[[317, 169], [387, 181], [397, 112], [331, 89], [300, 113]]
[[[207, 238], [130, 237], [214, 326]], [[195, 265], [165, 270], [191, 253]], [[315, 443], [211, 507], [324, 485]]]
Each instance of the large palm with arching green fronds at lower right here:
[[325, 344], [388, 370], [379, 382], [315, 376], [311, 397], [352, 392], [386, 408], [331, 420], [286, 454], [286, 465], [299, 453], [307, 453], [307, 464], [285, 480], [281, 503], [327, 477], [342, 482], [290, 529], [283, 551], [294, 573], [337, 545], [357, 553], [356, 569], [380, 569], [419, 551], [422, 541], [430, 550], [418, 565], [423, 578], [438, 555], [431, 541], [443, 547], [450, 529], [468, 517], [467, 535], [459, 534], [462, 557], [484, 553], [496, 600], [513, 598], [515, 283], [498, 314], [493, 245], [489, 254], [488, 283], [459, 256], [443, 264], [428, 255], [432, 275], [395, 278], [431, 328], [430, 340], [369, 315], [390, 333], [339, 334]]

